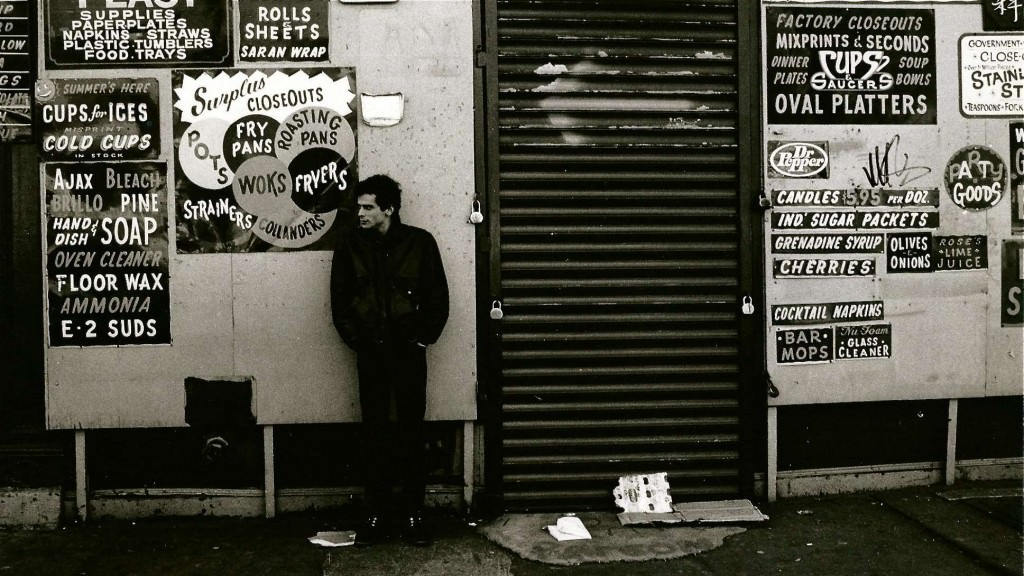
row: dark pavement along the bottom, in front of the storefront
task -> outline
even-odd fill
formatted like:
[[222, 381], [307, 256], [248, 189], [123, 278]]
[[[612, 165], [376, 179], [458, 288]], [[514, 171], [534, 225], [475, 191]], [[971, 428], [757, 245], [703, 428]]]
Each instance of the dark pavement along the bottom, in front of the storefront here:
[[[1024, 574], [1020, 483], [967, 483], [761, 504], [770, 521], [671, 561], [552, 566], [435, 515], [437, 541], [324, 548], [310, 536], [353, 527], [347, 510], [261, 519], [90, 521], [0, 532], [0, 576]], [[553, 515], [556, 518], [558, 515]], [[659, 529], [650, 530], [652, 538]]]

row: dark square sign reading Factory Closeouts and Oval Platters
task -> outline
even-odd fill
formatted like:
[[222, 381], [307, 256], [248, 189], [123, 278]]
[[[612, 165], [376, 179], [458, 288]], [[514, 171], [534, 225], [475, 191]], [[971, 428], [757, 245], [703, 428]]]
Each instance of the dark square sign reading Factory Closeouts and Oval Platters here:
[[769, 123], [935, 124], [934, 10], [765, 13]]

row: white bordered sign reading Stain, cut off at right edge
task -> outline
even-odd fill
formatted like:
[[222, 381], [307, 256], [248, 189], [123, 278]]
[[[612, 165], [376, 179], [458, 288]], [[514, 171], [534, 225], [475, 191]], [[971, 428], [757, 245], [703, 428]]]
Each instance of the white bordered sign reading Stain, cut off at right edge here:
[[959, 58], [961, 114], [1024, 116], [1024, 35], [962, 36]]

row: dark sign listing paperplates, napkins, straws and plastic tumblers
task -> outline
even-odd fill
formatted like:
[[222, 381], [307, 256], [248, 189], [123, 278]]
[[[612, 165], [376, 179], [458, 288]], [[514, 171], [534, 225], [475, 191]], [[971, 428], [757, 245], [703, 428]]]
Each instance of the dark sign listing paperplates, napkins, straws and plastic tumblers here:
[[46, 0], [48, 68], [229, 66], [227, 0]]

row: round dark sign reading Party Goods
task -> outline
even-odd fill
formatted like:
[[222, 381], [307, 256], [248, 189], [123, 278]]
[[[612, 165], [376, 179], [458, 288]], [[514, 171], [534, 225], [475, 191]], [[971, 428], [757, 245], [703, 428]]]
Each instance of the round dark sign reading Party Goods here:
[[1007, 165], [983, 146], [961, 149], [946, 163], [946, 192], [965, 210], [987, 210], [1002, 200]]

